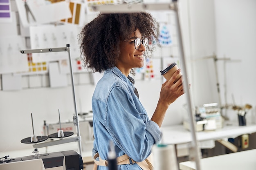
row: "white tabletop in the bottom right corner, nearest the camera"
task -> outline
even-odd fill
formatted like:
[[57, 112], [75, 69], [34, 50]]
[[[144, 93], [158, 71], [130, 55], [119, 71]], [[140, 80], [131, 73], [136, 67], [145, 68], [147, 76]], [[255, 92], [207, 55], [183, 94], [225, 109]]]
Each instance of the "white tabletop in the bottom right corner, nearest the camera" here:
[[[255, 170], [256, 149], [201, 159], [200, 168], [201, 170]], [[181, 162], [180, 170], [196, 170], [195, 162]]]

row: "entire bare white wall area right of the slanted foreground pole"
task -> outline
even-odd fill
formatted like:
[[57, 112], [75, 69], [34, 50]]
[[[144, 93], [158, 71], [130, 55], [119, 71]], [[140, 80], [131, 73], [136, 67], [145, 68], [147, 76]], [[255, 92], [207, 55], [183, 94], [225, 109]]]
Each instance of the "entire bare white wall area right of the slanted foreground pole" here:
[[[247, 121], [256, 121], [256, 1], [190, 0], [190, 53], [192, 99], [195, 106], [217, 102], [230, 121], [237, 121], [238, 106], [250, 104]], [[217, 61], [214, 62], [213, 54]], [[224, 58], [230, 60], [222, 60]], [[220, 100], [217, 91], [217, 65]]]

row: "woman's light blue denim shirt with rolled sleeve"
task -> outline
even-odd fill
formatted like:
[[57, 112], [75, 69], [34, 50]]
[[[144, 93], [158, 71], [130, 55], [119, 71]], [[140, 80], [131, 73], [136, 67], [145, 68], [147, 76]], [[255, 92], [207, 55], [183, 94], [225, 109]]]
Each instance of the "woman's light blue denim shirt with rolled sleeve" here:
[[[135, 95], [134, 85], [117, 68], [104, 72], [92, 96], [94, 148], [101, 159], [108, 159], [109, 142], [114, 142], [117, 157], [127, 154], [143, 161], [153, 144], [162, 139], [159, 126], [150, 121], [145, 108]], [[98, 170], [108, 167], [98, 166]], [[120, 165], [118, 170], [140, 170], [137, 163]]]

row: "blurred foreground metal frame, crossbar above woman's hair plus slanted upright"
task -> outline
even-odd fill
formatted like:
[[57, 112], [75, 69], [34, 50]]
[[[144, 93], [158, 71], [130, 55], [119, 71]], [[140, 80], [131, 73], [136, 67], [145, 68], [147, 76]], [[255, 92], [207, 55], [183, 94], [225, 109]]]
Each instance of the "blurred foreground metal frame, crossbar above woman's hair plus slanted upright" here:
[[100, 11], [101, 13], [134, 13], [134, 12], [141, 12], [146, 10], [173, 10], [176, 13], [177, 18], [177, 31], [178, 37], [180, 42], [180, 53], [181, 53], [181, 64], [182, 64], [182, 73], [183, 73], [183, 88], [186, 92], [186, 99], [188, 103], [188, 112], [189, 112], [189, 123], [192, 135], [192, 142], [191, 142], [191, 150], [193, 151], [194, 160], [196, 163], [197, 170], [200, 170], [200, 156], [199, 156], [199, 149], [195, 134], [195, 120], [192, 111], [192, 104], [191, 104], [191, 97], [189, 92], [189, 83], [187, 79], [187, 71], [186, 71], [186, 64], [185, 64], [185, 57], [184, 57], [184, 49], [183, 49], [183, 42], [182, 42], [182, 33], [180, 28], [180, 17], [179, 17], [179, 10], [177, 0], [173, 0], [171, 3], [139, 3], [139, 4], [103, 4], [103, 5], [94, 5], [92, 6], [94, 11]]

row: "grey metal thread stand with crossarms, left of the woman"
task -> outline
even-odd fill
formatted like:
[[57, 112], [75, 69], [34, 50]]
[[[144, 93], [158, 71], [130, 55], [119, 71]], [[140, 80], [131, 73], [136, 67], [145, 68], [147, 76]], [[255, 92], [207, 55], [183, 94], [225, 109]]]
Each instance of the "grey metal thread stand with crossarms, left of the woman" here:
[[78, 120], [78, 113], [77, 113], [77, 107], [76, 107], [76, 96], [75, 96], [75, 89], [74, 89], [74, 77], [73, 77], [73, 70], [72, 70], [72, 60], [71, 60], [71, 55], [70, 55], [70, 44], [66, 44], [66, 47], [52, 48], [52, 49], [20, 50], [20, 53], [22, 53], [22, 54], [27, 54], [27, 53], [53, 53], [53, 52], [62, 52], [62, 51], [66, 51], [68, 53], [69, 61], [70, 61], [70, 75], [71, 75], [72, 93], [73, 93], [74, 109], [75, 109], [75, 115], [73, 116], [73, 121], [74, 121], [74, 125], [76, 126], [77, 136], [76, 137], [69, 137], [69, 138], [62, 138], [61, 140], [55, 140], [55, 141], [49, 141], [49, 142], [43, 142], [43, 143], [36, 143], [36, 144], [33, 144], [33, 147], [34, 148], [43, 148], [43, 147], [46, 147], [46, 146], [65, 144], [65, 143], [69, 143], [69, 142], [78, 142], [78, 144], [79, 144], [79, 154], [82, 155], [81, 135], [80, 135], [79, 120]]

